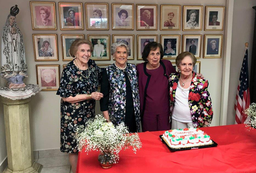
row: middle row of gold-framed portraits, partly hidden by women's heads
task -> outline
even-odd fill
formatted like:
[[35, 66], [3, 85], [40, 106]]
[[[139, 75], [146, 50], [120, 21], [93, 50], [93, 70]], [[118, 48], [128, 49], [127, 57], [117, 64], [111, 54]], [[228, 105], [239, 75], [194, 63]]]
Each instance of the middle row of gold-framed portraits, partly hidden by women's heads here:
[[[73, 58], [69, 53], [72, 42], [77, 38], [84, 38], [83, 34], [61, 34], [62, 59], [70, 61]], [[93, 44], [91, 59], [95, 61], [110, 60], [110, 35], [87, 35]], [[221, 58], [222, 34], [204, 35], [203, 58]], [[164, 59], [176, 59], [180, 52], [189, 51], [196, 58], [201, 57], [202, 35], [161, 34], [160, 43], [164, 50]], [[129, 47], [128, 60], [134, 60], [134, 35], [113, 34], [112, 42], [124, 41]], [[137, 35], [137, 60], [142, 60], [144, 47], [151, 41], [158, 41], [158, 35]], [[33, 34], [35, 61], [59, 61], [57, 34]]]

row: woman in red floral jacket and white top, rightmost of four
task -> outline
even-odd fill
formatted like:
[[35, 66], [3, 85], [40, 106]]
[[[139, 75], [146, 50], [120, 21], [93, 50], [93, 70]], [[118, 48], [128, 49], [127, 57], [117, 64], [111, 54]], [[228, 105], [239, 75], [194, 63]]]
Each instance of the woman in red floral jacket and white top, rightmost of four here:
[[193, 72], [196, 58], [183, 52], [176, 58], [180, 73], [170, 75], [172, 129], [209, 127], [213, 111], [208, 81]]

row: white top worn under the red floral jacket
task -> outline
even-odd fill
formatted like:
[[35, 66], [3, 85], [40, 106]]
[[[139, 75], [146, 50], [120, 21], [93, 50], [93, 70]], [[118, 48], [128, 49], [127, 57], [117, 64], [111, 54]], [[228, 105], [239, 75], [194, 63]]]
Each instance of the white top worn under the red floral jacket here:
[[182, 88], [180, 82], [175, 93], [175, 102], [172, 110], [172, 119], [183, 122], [192, 123], [192, 116], [189, 107], [189, 90], [188, 88]]

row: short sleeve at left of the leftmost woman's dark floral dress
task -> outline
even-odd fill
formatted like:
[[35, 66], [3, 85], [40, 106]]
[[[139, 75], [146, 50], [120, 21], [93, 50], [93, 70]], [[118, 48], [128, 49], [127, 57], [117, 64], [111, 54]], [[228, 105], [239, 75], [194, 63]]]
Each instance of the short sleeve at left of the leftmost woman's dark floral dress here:
[[76, 93], [73, 92], [72, 76], [72, 69], [70, 67], [64, 68], [61, 75], [60, 87], [56, 93], [57, 95], [60, 95], [64, 98], [67, 98], [69, 96], [74, 97], [76, 95]]

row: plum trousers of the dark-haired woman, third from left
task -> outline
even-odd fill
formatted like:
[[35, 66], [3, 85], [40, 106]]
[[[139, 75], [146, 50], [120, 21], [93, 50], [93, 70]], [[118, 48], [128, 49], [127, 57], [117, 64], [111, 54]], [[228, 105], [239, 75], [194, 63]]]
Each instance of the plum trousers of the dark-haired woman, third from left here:
[[144, 113], [141, 124], [142, 132], [170, 130], [169, 117], [170, 111], [158, 115]]

